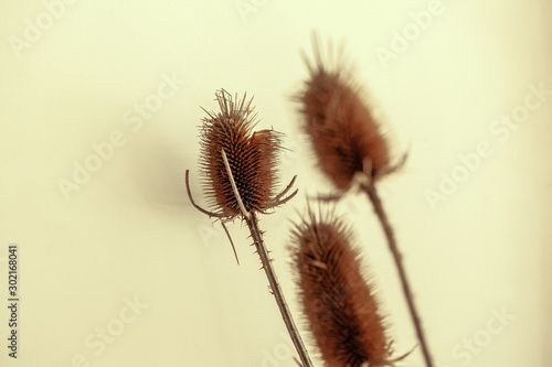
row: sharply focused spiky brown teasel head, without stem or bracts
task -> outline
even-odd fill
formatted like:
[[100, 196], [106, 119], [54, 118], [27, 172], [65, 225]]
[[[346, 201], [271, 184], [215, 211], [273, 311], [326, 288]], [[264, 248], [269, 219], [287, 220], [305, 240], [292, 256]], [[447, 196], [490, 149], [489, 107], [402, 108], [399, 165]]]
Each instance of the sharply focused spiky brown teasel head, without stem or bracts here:
[[208, 112], [201, 128], [200, 166], [210, 205], [233, 218], [241, 214], [238, 202], [222, 159], [224, 150], [237, 191], [247, 212], [263, 211], [272, 202], [277, 184], [282, 134], [274, 130], [253, 132], [256, 114], [245, 101], [224, 89], [216, 94], [220, 112]]

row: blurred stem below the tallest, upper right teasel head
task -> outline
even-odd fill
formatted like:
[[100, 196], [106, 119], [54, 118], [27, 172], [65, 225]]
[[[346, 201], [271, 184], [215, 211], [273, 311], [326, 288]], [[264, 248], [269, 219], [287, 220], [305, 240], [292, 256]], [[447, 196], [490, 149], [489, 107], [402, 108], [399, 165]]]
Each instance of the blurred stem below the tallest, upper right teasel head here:
[[393, 233], [393, 228], [389, 223], [388, 215], [383, 209], [383, 204], [378, 195], [378, 191], [373, 185], [373, 182], [369, 182], [364, 185], [364, 190], [368, 194], [368, 197], [372, 202], [375, 215], [380, 219], [380, 223], [383, 227], [383, 231], [385, 233], [385, 237], [388, 239], [388, 245], [395, 260], [396, 269], [399, 271], [399, 277], [401, 278], [401, 283], [403, 287], [403, 293], [406, 299], [406, 303], [408, 304], [408, 310], [412, 316], [412, 321], [414, 323], [414, 327], [416, 328], [416, 335], [420, 341], [420, 345], [422, 347], [422, 354], [424, 355], [425, 364], [427, 367], [433, 367], [432, 357], [429, 355], [429, 349], [427, 347], [427, 342], [425, 339], [424, 331], [422, 330], [422, 323], [420, 321], [420, 316], [416, 311], [416, 306], [414, 305], [414, 298], [412, 296], [411, 287], [408, 284], [408, 280], [406, 278], [406, 272], [404, 271], [404, 266], [402, 261], [402, 255], [399, 251], [396, 246], [395, 235]]

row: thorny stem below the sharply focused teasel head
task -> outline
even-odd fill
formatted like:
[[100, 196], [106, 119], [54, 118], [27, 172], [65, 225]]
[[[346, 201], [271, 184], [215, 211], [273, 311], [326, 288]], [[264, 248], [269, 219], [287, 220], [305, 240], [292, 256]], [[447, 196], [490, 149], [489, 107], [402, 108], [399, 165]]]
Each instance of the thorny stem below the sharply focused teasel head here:
[[255, 248], [257, 250], [258, 257], [261, 258], [261, 263], [263, 265], [263, 269], [265, 270], [266, 277], [268, 278], [268, 283], [270, 284], [270, 291], [276, 298], [276, 303], [278, 304], [279, 312], [282, 313], [282, 317], [284, 319], [284, 323], [286, 324], [289, 336], [294, 342], [295, 348], [299, 354], [302, 366], [312, 367], [312, 361], [310, 361], [307, 349], [302, 344], [301, 336], [299, 335], [297, 326], [295, 325], [291, 313], [289, 312], [289, 307], [287, 306], [286, 299], [284, 298], [284, 293], [282, 292], [282, 288], [279, 287], [278, 279], [276, 278], [276, 272], [274, 271], [272, 259], [268, 256], [268, 250], [266, 249], [265, 242], [263, 240], [263, 234], [258, 229], [258, 219], [255, 213], [251, 212], [250, 218], [245, 218], [245, 222], [247, 223], [247, 227], [250, 227], [251, 236], [253, 237]]

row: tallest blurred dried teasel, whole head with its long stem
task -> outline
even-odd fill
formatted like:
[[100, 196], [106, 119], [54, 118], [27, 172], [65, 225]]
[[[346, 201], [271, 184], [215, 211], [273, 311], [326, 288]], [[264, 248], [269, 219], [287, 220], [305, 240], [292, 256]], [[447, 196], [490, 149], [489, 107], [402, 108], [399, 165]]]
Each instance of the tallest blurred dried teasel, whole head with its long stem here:
[[[396, 171], [406, 155], [399, 164], [390, 164], [388, 143], [370, 106], [364, 102], [361, 88], [353, 82], [350, 67], [341, 58], [329, 66], [329, 62], [322, 60], [319, 44], [314, 34], [315, 63], [304, 55], [310, 75], [297, 101], [300, 104], [302, 128], [310, 137], [318, 165], [339, 191], [337, 195], [326, 198], [339, 198], [348, 190], [363, 191], [370, 198], [393, 255], [425, 363], [432, 367], [395, 236], [374, 185], [380, 177]], [[333, 62], [331, 45], [328, 54]]]

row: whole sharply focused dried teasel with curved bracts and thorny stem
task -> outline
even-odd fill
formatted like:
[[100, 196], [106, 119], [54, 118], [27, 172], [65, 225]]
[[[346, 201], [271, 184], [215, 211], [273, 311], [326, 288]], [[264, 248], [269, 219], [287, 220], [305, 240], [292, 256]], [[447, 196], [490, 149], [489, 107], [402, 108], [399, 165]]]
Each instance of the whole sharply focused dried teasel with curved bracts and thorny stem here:
[[[246, 101], [244, 94], [242, 100], [237, 95], [233, 99], [224, 89], [217, 90], [215, 96], [220, 111], [205, 110], [208, 117], [203, 119], [200, 133], [202, 185], [209, 205], [214, 212], [200, 207], [193, 201], [189, 184], [190, 173], [187, 170], [188, 196], [197, 209], [221, 220], [233, 248], [234, 244], [225, 223], [234, 218], [241, 218], [246, 223], [268, 279], [270, 292], [276, 299], [299, 359], [304, 367], [311, 367], [312, 363], [272, 266], [273, 259], [265, 246], [263, 231], [258, 228], [257, 213], [266, 213], [297, 194], [296, 190], [285, 196], [296, 177], [279, 194], [275, 193], [279, 181], [277, 164], [283, 149], [283, 134], [274, 130], [253, 131], [256, 125], [256, 114], [252, 107], [253, 98]], [[236, 253], [235, 248], [234, 253]]]

